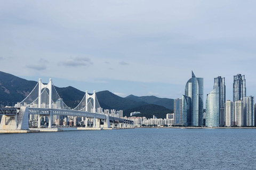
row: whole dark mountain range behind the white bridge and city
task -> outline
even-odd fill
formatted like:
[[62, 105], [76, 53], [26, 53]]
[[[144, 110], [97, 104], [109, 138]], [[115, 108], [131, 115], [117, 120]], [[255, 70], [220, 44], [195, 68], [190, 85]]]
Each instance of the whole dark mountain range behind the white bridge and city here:
[[[0, 71], [0, 104], [9, 106], [25, 99], [36, 86], [36, 81], [29, 81]], [[74, 87], [55, 87], [63, 101], [71, 108], [76, 107], [82, 100], [85, 92]], [[100, 106], [103, 109], [123, 110], [123, 116], [130, 116], [131, 112], [141, 112], [137, 116], [165, 118], [167, 113], [173, 113], [173, 99], [158, 98], [155, 96], [119, 97], [110, 91], [96, 93]]]

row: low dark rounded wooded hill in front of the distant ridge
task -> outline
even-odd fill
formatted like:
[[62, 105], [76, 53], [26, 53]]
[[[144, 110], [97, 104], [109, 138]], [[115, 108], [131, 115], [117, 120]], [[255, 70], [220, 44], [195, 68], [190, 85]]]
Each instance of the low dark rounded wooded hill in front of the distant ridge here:
[[157, 118], [166, 118], [166, 114], [173, 113], [173, 110], [165, 108], [164, 106], [150, 104], [150, 105], [135, 107], [132, 109], [126, 109], [123, 112], [123, 115], [130, 117], [130, 113], [132, 112], [140, 112], [141, 114], [134, 115], [138, 117], [145, 116], [147, 118], [153, 118], [153, 115], [155, 115]]

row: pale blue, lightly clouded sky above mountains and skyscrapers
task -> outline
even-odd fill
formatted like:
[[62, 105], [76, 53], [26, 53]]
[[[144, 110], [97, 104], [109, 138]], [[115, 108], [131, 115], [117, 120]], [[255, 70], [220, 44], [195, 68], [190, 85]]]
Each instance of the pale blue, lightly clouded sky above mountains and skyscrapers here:
[[191, 71], [245, 75], [256, 96], [256, 1], [0, 1], [0, 71], [57, 87], [181, 98]]

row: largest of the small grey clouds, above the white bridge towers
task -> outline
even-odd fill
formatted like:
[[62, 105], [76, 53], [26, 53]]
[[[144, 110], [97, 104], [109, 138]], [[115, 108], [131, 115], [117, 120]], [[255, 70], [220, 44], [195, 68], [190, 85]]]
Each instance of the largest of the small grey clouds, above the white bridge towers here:
[[90, 58], [87, 57], [75, 57], [75, 58], [68, 58], [63, 62], [59, 62], [59, 65], [64, 65], [64, 66], [90, 66], [93, 63], [91, 62]]

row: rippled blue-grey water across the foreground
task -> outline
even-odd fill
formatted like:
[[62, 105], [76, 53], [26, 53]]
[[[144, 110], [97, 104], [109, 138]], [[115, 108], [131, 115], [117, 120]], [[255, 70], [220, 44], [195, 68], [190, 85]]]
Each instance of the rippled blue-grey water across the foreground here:
[[0, 134], [0, 169], [256, 169], [256, 129]]

